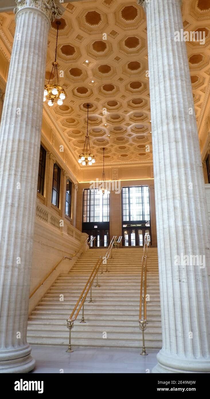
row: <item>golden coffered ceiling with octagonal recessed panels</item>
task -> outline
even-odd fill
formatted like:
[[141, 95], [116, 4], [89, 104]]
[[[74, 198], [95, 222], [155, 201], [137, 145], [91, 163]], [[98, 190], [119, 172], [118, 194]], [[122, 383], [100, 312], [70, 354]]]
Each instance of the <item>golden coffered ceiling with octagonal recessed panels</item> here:
[[[86, 132], [86, 104], [89, 133], [96, 163], [102, 166], [152, 165], [152, 142], [147, 77], [147, 29], [143, 8], [129, 0], [83, 0], [62, 4], [58, 40], [61, 85], [66, 99], [62, 106], [44, 113], [62, 135], [78, 168], [77, 159]], [[210, 0], [184, 0], [184, 30], [204, 31], [206, 43], [187, 42], [189, 67], [199, 124], [210, 93]], [[7, 40], [14, 37], [14, 15], [0, 14]], [[46, 83], [55, 57], [57, 26], [49, 32]], [[86, 62], [86, 60], [88, 62]], [[62, 74], [62, 73], [61, 73]]]

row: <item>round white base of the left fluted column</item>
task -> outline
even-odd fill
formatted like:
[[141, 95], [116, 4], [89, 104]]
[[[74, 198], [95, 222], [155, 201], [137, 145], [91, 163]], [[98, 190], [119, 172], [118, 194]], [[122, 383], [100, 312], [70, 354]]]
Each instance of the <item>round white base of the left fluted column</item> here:
[[0, 352], [0, 373], [29, 373], [35, 366], [31, 347]]

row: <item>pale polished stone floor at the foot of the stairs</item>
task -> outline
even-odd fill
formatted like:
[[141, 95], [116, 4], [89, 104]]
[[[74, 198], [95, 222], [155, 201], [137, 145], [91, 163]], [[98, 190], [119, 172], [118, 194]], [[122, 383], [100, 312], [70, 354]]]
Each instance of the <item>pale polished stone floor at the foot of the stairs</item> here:
[[139, 350], [31, 345], [36, 360], [31, 373], [151, 373], [157, 351], [141, 356]]

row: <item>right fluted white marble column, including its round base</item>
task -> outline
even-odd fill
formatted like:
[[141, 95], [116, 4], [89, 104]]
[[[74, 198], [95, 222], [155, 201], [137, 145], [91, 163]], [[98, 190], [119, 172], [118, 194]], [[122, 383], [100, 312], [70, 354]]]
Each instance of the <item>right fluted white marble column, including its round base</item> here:
[[174, 40], [181, 1], [139, 4], [147, 14], [163, 332], [153, 373], [209, 373], [210, 229], [186, 44]]

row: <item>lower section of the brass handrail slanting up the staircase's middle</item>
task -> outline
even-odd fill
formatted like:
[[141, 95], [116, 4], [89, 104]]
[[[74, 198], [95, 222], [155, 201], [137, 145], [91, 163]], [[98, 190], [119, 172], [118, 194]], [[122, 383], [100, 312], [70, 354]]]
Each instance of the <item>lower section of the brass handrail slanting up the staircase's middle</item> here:
[[[73, 311], [71, 312], [71, 315], [67, 319], [67, 328], [69, 328], [69, 346], [68, 346], [68, 349], [66, 352], [73, 352], [73, 350], [71, 349], [71, 330], [74, 326], [74, 321], [77, 319], [77, 316], [78, 316], [81, 308], [82, 308], [82, 320], [80, 323], [85, 323], [85, 321], [84, 321], [84, 302], [86, 300], [86, 296], [87, 296], [89, 290], [90, 290], [90, 302], [93, 302], [92, 301], [92, 283], [94, 282], [96, 274], [97, 274], [96, 287], [100, 287], [98, 285], [98, 271], [100, 269], [100, 265], [102, 265], [102, 261], [103, 261], [103, 258], [100, 256], [98, 258], [98, 261], [96, 262], [96, 265], [94, 266], [94, 268], [92, 270], [92, 273], [90, 274], [90, 277], [88, 278], [88, 280], [79, 296], [79, 299], [78, 299]], [[88, 284], [89, 284], [89, 286], [88, 286]], [[87, 286], [88, 286], [88, 288], [87, 288]], [[77, 309], [80, 300], [81, 300], [81, 303], [80, 303], [79, 308]], [[76, 312], [76, 314], [75, 314], [75, 312]]]

